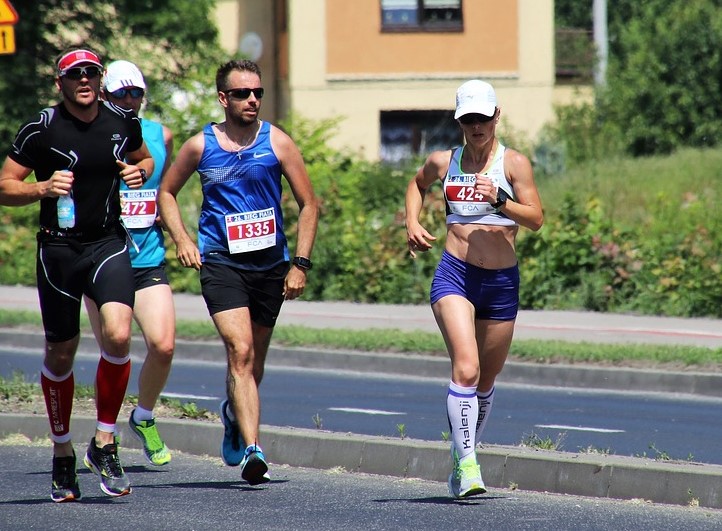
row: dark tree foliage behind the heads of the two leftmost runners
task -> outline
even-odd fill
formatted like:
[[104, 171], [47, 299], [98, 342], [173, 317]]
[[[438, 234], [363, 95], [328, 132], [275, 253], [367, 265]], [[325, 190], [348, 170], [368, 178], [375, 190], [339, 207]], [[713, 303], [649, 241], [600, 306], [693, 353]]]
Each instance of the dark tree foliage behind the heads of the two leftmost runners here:
[[[212, 65], [223, 54], [210, 18], [213, 0], [13, 0], [19, 15], [16, 53], [0, 56], [0, 153], [17, 128], [55, 103], [54, 62], [69, 46], [89, 46], [104, 62], [127, 59], [143, 71], [150, 94], [172, 91], [179, 79]], [[205, 73], [205, 72], [204, 72]], [[213, 87], [213, 79], [210, 87]], [[211, 93], [215, 95], [215, 88]], [[169, 98], [150, 100], [161, 112]]]

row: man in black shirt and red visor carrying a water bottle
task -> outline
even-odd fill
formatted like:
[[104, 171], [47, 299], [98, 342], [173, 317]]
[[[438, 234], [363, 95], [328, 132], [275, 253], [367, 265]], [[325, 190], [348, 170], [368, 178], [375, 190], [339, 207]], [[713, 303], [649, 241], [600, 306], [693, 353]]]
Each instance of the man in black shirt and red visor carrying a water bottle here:
[[[135, 293], [118, 188], [120, 179], [130, 188], [142, 186], [153, 173], [153, 158], [135, 113], [98, 100], [102, 69], [91, 50], [63, 53], [55, 78], [61, 103], [20, 128], [0, 170], [0, 205], [40, 201], [36, 275], [46, 340], [40, 379], [53, 441], [55, 502], [80, 498], [70, 416], [83, 293], [100, 308], [103, 336], [96, 373], [98, 422], [84, 460], [106, 494], [131, 490], [114, 440], [130, 376]], [[33, 172], [37, 182], [25, 182]], [[61, 228], [58, 197], [71, 193], [75, 224]]]

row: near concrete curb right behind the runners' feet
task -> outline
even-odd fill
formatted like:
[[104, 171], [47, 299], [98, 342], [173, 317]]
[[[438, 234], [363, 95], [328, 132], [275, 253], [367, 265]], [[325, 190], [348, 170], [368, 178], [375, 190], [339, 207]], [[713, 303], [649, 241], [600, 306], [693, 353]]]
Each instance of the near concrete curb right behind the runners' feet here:
[[[74, 433], [84, 434], [76, 436], [78, 444], [90, 439], [95, 419], [75, 417], [73, 424]], [[194, 420], [162, 419], [162, 432], [170, 448], [193, 455], [218, 455], [223, 437], [220, 423]], [[0, 437], [16, 433], [31, 439], [46, 438], [47, 419], [0, 414]], [[123, 446], [140, 448], [127, 424], [119, 424], [119, 435]], [[451, 468], [448, 444], [443, 442], [275, 426], [262, 426], [261, 435], [264, 452], [275, 464], [342, 467], [349, 472], [442, 482]], [[506, 446], [488, 446], [478, 455], [484, 481], [492, 488], [722, 508], [722, 466], [718, 465]]]

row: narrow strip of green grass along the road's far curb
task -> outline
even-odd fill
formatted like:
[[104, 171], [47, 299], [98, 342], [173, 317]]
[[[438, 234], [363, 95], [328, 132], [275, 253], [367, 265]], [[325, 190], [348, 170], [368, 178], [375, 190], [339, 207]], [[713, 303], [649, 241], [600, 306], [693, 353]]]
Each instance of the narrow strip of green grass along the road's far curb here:
[[[40, 329], [39, 313], [0, 310], [0, 327]], [[83, 333], [90, 334], [85, 316]], [[208, 321], [178, 321], [179, 339], [218, 340]], [[365, 352], [391, 352], [446, 356], [439, 332], [392, 329], [342, 330], [277, 326], [273, 344], [289, 347], [317, 347]], [[572, 343], [565, 341], [515, 340], [510, 359], [530, 363], [586, 363], [610, 366], [664, 367], [722, 371], [722, 349], [679, 345]]]

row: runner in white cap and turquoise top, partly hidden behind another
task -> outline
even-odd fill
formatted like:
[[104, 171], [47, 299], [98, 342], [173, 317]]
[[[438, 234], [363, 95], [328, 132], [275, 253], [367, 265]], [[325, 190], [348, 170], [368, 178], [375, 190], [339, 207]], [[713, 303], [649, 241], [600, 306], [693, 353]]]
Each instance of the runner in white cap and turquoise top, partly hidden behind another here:
[[[105, 69], [103, 94], [106, 101], [140, 114], [146, 95], [140, 69], [129, 61], [113, 61]], [[175, 348], [175, 307], [165, 272], [165, 244], [158, 223], [156, 195], [160, 181], [170, 166], [173, 133], [152, 120], [142, 118], [140, 125], [155, 171], [141, 188], [120, 185], [121, 217], [132, 238], [130, 263], [135, 277], [135, 318], [147, 348], [138, 376], [138, 406], [128, 419], [131, 431], [143, 444], [143, 454], [151, 465], [170, 463], [171, 453], [161, 439], [153, 417], [153, 408], [168, 381]], [[95, 304], [87, 297], [85, 306], [96, 340], [100, 345], [100, 322]]]

